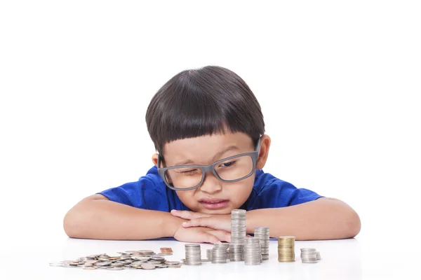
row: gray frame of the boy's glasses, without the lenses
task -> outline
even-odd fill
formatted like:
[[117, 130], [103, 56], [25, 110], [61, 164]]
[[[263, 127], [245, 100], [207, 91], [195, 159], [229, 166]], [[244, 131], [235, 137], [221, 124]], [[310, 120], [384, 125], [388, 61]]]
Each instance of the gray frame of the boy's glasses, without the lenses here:
[[[206, 175], [207, 172], [213, 173], [215, 175], [215, 177], [218, 178], [218, 180], [220, 180], [222, 182], [225, 182], [225, 183], [237, 182], [237, 181], [241, 181], [241, 180], [244, 180], [244, 179], [250, 177], [255, 172], [256, 165], [257, 165], [257, 162], [258, 162], [259, 152], [260, 152], [260, 137], [259, 137], [258, 143], [255, 146], [255, 151], [249, 152], [249, 153], [241, 153], [239, 155], [233, 155], [232, 157], [229, 157], [229, 158], [223, 158], [222, 160], [218, 160], [217, 162], [213, 162], [210, 165], [177, 165], [177, 166], [173, 166], [173, 167], [163, 167], [163, 168], [160, 168], [160, 166], [161, 166], [161, 155], [158, 155], [158, 162], [157, 162], [157, 165], [159, 166], [158, 167], [158, 173], [159, 173], [159, 176], [161, 176], [161, 178], [163, 179], [163, 182], [166, 184], [166, 186], [168, 188], [171, 188], [171, 190], [194, 190], [195, 188], [199, 188], [203, 184], [203, 181], [205, 181], [205, 175]], [[243, 155], [250, 155], [250, 158], [253, 160], [253, 169], [250, 172], [250, 174], [248, 174], [246, 176], [243, 176], [240, 179], [224, 180], [215, 171], [215, 166], [218, 165], [219, 163], [225, 162], [227, 160], [231, 160], [231, 159], [234, 159], [234, 158], [239, 158], [239, 157], [241, 157]], [[201, 179], [200, 183], [197, 184], [194, 187], [191, 187], [191, 188], [174, 188], [173, 186], [171, 186], [170, 183], [168, 183], [168, 181], [166, 179], [166, 176], [165, 176], [165, 172], [167, 170], [169, 170], [169, 169], [185, 168], [185, 167], [194, 167], [194, 168], [201, 169], [202, 179]]]

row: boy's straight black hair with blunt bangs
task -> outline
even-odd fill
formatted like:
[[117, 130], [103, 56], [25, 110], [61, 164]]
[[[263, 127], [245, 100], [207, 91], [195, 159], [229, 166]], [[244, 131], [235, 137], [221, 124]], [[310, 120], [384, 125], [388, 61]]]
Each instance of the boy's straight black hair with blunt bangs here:
[[246, 82], [220, 66], [181, 71], [152, 97], [146, 123], [158, 153], [166, 143], [217, 132], [265, 133], [260, 104]]

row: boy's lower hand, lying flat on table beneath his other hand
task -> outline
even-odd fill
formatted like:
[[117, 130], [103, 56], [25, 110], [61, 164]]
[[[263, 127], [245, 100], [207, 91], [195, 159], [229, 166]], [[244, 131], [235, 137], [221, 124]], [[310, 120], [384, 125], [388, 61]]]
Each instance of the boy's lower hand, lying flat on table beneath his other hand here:
[[221, 241], [231, 242], [231, 233], [204, 227], [185, 228], [180, 225], [174, 233], [174, 238], [184, 242], [218, 244]]

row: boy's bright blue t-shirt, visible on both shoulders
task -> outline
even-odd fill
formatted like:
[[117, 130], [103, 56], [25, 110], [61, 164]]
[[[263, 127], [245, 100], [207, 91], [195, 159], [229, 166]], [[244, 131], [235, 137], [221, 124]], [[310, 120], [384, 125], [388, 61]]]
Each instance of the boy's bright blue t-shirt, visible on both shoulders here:
[[[168, 188], [154, 166], [136, 182], [109, 188], [99, 194], [109, 200], [140, 209], [169, 212], [189, 210], [178, 198], [175, 190]], [[253, 209], [288, 207], [317, 200], [321, 195], [305, 188], [295, 188], [291, 183], [277, 179], [262, 169], [256, 170], [255, 183], [248, 200], [241, 206]]]

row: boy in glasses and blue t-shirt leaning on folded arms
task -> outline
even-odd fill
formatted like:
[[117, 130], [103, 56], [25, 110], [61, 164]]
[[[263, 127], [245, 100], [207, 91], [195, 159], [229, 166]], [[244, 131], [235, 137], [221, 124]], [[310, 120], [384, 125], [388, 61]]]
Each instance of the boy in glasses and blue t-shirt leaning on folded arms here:
[[246, 209], [246, 232], [296, 240], [345, 239], [360, 220], [344, 202], [262, 171], [271, 140], [258, 100], [236, 73], [186, 70], [156, 92], [146, 114], [158, 153], [138, 181], [86, 197], [66, 214], [69, 237], [230, 241], [232, 209]]

